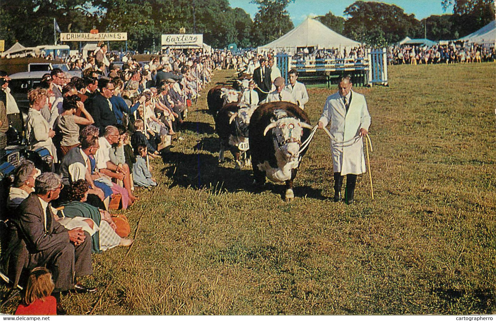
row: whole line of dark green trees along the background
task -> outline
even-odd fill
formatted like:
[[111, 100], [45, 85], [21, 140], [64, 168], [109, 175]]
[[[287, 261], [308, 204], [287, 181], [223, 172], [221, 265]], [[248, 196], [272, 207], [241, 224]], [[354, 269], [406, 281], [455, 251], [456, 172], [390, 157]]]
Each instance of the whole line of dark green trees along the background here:
[[[228, 0], [17, 0], [0, 1], [0, 37], [8, 48], [51, 44], [53, 18], [62, 32], [127, 32], [130, 50], [158, 50], [162, 34], [202, 33], [205, 43], [225, 48], [231, 43], [249, 48], [267, 44], [294, 28], [287, 6], [295, 0], [251, 0], [254, 19]], [[494, 20], [492, 0], [441, 0], [452, 14], [417, 20], [394, 4], [356, 1], [343, 15], [318, 16], [334, 31], [372, 46], [385, 46], [406, 36], [451, 40]], [[73, 49], [76, 43], [70, 44]], [[122, 47], [123, 44], [119, 44]], [[111, 46], [113, 47], [113, 46]]]

